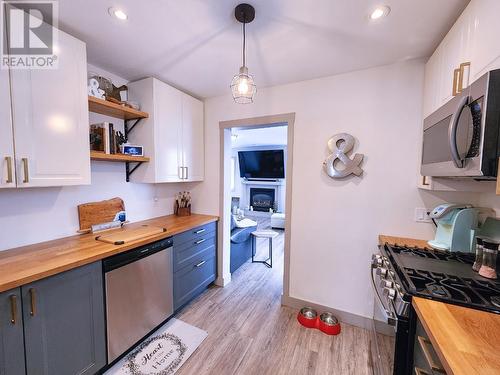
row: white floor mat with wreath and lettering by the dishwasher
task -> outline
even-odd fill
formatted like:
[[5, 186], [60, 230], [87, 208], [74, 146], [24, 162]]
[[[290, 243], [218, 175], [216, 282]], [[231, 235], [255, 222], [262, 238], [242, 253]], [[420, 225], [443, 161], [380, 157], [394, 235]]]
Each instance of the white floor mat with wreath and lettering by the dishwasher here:
[[105, 375], [170, 375], [181, 368], [208, 333], [171, 319], [116, 363]]

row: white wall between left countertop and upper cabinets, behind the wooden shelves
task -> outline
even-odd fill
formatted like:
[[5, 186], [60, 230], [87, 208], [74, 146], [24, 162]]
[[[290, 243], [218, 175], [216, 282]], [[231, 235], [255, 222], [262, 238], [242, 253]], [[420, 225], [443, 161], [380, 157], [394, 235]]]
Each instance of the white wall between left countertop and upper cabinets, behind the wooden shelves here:
[[[126, 81], [88, 66], [89, 71], [110, 77], [115, 85]], [[123, 121], [90, 114], [90, 122], [109, 121], [123, 128]], [[138, 125], [140, 126], [140, 125]], [[134, 184], [125, 181], [125, 164], [92, 162], [92, 184], [55, 188], [2, 189], [0, 191], [0, 250], [76, 234], [80, 203], [113, 197], [125, 201], [128, 219], [144, 220], [173, 213], [174, 195], [192, 184]], [[193, 197], [196, 210], [196, 197]]]

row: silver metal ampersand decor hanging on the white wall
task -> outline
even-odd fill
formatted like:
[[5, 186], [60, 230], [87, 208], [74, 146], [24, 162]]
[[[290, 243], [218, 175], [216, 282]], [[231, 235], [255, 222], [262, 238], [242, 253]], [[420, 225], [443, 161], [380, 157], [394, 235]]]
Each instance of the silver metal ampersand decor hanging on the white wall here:
[[[363, 161], [364, 155], [355, 154], [352, 159], [346, 155], [352, 150], [354, 143], [354, 137], [347, 133], [339, 133], [329, 139], [328, 149], [331, 155], [323, 162], [323, 168], [328, 176], [337, 179], [347, 177], [351, 174], [360, 176], [363, 173], [359, 165]], [[337, 159], [344, 165], [344, 168], [335, 168]]]

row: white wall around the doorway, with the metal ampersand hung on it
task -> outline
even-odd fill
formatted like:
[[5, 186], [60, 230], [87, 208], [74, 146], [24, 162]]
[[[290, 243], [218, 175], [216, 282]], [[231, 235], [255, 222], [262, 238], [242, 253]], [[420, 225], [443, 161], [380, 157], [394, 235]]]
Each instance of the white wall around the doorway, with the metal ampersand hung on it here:
[[[368, 266], [378, 234], [431, 238], [432, 225], [413, 221], [415, 207], [477, 203], [475, 195], [416, 188], [423, 67], [409, 61], [261, 88], [253, 105], [208, 99], [199, 211], [219, 211], [219, 121], [295, 112], [290, 296], [371, 316]], [[361, 178], [334, 181], [322, 171], [326, 143], [339, 132], [359, 141]]]

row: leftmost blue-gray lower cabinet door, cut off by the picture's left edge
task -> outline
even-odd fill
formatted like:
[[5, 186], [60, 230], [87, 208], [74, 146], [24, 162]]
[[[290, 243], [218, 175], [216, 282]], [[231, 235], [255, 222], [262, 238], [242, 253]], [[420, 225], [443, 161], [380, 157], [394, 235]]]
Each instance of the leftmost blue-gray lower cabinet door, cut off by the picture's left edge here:
[[0, 375], [24, 375], [21, 289], [0, 293]]

